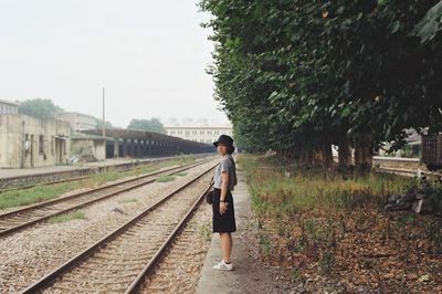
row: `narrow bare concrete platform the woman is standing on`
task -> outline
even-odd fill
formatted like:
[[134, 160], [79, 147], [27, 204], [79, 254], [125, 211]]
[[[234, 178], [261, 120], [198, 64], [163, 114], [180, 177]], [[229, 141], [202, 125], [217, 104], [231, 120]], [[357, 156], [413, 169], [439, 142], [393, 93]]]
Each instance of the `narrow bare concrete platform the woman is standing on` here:
[[288, 285], [276, 281], [270, 266], [259, 260], [259, 246], [253, 233], [250, 231], [251, 198], [243, 174], [238, 171], [238, 186], [232, 191], [236, 232], [232, 233], [233, 271], [213, 270], [212, 265], [222, 259], [220, 238], [214, 233], [209, 246], [197, 294], [224, 294], [224, 293], [291, 293]]

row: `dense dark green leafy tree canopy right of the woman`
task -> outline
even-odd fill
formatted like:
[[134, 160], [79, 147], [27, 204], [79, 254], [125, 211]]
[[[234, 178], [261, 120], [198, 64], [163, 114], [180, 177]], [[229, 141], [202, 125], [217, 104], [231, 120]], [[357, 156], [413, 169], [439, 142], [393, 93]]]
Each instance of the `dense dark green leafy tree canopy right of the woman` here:
[[[239, 143], [299, 164], [370, 169], [404, 129], [442, 129], [440, 36], [409, 32], [438, 1], [203, 0], [213, 75]], [[250, 146], [250, 147], [249, 147]]]

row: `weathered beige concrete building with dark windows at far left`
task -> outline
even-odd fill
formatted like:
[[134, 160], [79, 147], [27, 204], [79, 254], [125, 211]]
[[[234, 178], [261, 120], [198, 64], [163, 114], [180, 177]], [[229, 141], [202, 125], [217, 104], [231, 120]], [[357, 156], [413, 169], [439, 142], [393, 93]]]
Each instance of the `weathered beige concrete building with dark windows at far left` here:
[[0, 168], [63, 165], [70, 158], [67, 123], [27, 115], [0, 115]]

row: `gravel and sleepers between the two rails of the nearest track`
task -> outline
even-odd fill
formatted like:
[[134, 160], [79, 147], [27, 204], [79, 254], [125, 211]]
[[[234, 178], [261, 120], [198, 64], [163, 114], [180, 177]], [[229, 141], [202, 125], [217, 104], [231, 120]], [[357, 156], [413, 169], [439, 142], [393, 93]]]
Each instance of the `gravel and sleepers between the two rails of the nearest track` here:
[[210, 175], [178, 192], [172, 200], [145, 216], [43, 293], [125, 292], [206, 189], [209, 180]]

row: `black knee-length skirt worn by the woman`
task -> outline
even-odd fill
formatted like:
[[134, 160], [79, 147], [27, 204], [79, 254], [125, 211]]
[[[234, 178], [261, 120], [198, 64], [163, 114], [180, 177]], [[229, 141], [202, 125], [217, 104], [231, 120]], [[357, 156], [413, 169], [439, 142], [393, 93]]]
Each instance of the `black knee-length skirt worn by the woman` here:
[[221, 189], [214, 188], [214, 196], [212, 202], [212, 229], [214, 233], [220, 232], [234, 232], [236, 231], [236, 222], [234, 218], [233, 209], [233, 197], [230, 191], [225, 196], [225, 201], [228, 204], [228, 210], [224, 213], [220, 213], [220, 196]]

